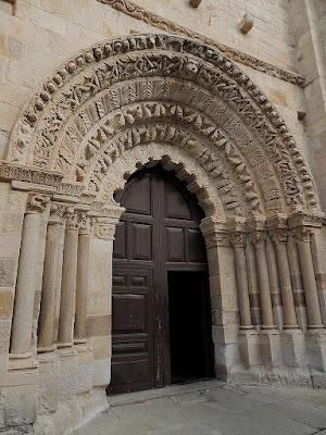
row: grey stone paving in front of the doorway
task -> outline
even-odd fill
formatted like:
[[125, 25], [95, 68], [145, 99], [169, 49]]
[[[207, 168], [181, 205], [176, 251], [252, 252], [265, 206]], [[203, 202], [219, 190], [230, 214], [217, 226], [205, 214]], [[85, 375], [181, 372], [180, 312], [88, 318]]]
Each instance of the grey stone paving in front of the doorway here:
[[74, 435], [326, 435], [326, 389], [218, 381], [110, 398]]

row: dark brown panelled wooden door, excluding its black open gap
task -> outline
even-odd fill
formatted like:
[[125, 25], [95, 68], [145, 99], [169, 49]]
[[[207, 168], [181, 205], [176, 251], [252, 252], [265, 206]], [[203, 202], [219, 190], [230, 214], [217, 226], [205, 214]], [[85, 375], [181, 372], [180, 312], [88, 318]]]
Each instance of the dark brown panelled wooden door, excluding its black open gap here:
[[[171, 383], [168, 274], [201, 273], [201, 288], [208, 274], [203, 212], [172, 173], [160, 166], [139, 171], [116, 200], [126, 212], [114, 243], [109, 393]], [[210, 316], [209, 310], [209, 340]]]

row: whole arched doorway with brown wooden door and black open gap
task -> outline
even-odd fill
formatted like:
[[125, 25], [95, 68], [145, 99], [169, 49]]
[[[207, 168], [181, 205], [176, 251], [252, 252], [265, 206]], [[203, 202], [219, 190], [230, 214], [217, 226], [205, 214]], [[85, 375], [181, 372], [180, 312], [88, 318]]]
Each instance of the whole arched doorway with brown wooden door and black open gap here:
[[203, 211], [161, 166], [134, 174], [113, 252], [110, 393], [213, 375]]

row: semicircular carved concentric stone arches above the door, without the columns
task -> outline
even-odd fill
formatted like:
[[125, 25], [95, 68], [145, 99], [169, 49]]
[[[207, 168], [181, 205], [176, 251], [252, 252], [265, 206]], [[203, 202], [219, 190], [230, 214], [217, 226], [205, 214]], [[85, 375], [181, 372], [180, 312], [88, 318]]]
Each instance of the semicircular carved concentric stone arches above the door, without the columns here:
[[[133, 149], [149, 156], [134, 161]], [[105, 41], [62, 65], [21, 114], [8, 160], [112, 202], [131, 174], [126, 159], [135, 171], [158, 152], [211, 213], [319, 210], [310, 170], [267, 98], [222, 53], [170, 35]]]

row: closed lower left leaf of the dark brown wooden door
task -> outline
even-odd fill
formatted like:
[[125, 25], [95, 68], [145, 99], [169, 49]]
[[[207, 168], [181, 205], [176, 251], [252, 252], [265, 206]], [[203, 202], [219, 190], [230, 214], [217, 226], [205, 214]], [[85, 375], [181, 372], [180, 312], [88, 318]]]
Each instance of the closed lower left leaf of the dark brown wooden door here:
[[151, 275], [152, 271], [114, 268], [111, 393], [153, 385]]

